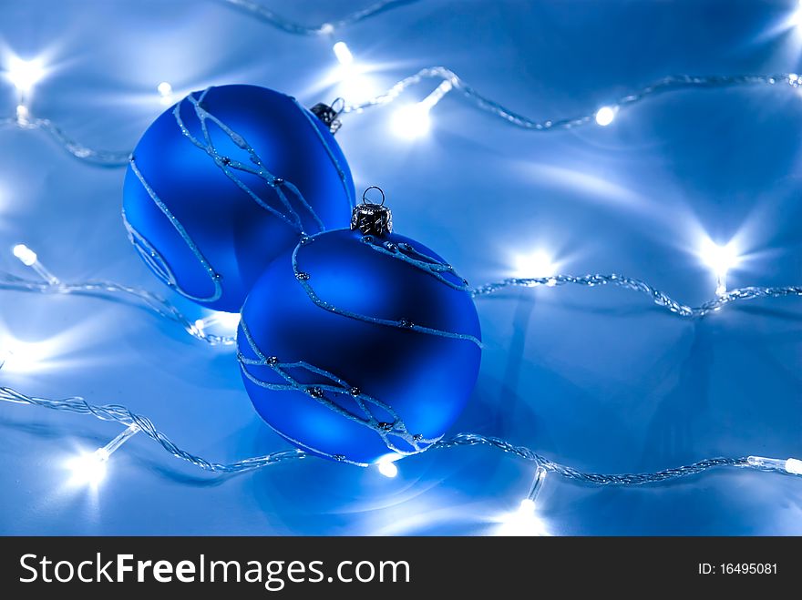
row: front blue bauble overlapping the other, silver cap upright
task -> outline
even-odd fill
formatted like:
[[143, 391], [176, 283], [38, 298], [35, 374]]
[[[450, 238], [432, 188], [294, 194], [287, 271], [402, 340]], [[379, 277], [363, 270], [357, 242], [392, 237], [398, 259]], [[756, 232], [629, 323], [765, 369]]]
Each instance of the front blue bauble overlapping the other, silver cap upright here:
[[478, 375], [468, 282], [390, 229], [388, 209], [363, 204], [352, 229], [303, 237], [256, 282], [237, 333], [262, 419], [299, 448], [346, 463], [426, 450]]

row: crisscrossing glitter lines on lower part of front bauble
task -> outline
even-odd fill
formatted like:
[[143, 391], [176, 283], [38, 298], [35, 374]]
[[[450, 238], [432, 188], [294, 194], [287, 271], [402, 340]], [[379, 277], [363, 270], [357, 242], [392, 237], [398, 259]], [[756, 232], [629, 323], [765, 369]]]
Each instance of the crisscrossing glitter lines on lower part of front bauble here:
[[[266, 355], [257, 345], [256, 341], [253, 340], [253, 336], [251, 331], [248, 330], [248, 327], [244, 320], [241, 321], [240, 326], [242, 327], [242, 333], [245, 335], [245, 340], [248, 341], [248, 346], [250, 347], [253, 354], [256, 356], [256, 359], [249, 358], [245, 356], [242, 352], [238, 352], [237, 360], [240, 362], [240, 368], [242, 369], [242, 373], [245, 377], [248, 378], [249, 381], [252, 383], [265, 388], [267, 390], [273, 391], [283, 391], [283, 392], [303, 392], [308, 395], [310, 398], [314, 399], [314, 401], [319, 402], [328, 410], [335, 412], [342, 416], [344, 419], [348, 421], [355, 422], [373, 432], [381, 438], [382, 442], [386, 445], [387, 449], [399, 453], [399, 454], [415, 454], [426, 450], [428, 446], [432, 443], [437, 442], [440, 438], [432, 438], [427, 439], [424, 438], [422, 435], [413, 434], [406, 429], [405, 422], [401, 419], [400, 415], [388, 404], [385, 402], [381, 402], [380, 400], [370, 396], [360, 390], [358, 387], [349, 384], [348, 382], [342, 380], [341, 378], [337, 377], [334, 373], [329, 371], [324, 371], [324, 369], [320, 369], [319, 367], [315, 367], [312, 364], [309, 364], [305, 361], [297, 361], [297, 362], [282, 362], [279, 361], [279, 358], [276, 356], [268, 356]], [[251, 371], [248, 370], [249, 366], [256, 366], [256, 367], [267, 367], [271, 369], [273, 372], [279, 375], [286, 383], [271, 383], [269, 381], [263, 381], [262, 379], [256, 377]], [[290, 370], [296, 371], [307, 371], [308, 373], [312, 373], [319, 377], [323, 377], [324, 379], [331, 381], [331, 384], [325, 383], [303, 383], [302, 381], [298, 381], [297, 378], [293, 377], [290, 374]], [[326, 394], [329, 395], [336, 395], [344, 398], [348, 398], [355, 403], [356, 408], [358, 409], [357, 412], [351, 412], [345, 409], [343, 406], [334, 402], [331, 398], [328, 398]], [[375, 418], [375, 415], [370, 410], [370, 406], [375, 406], [378, 409], [386, 412], [390, 415], [392, 421], [390, 422], [381, 422]], [[299, 442], [290, 438], [286, 433], [279, 432], [288, 440], [291, 440], [294, 443], [302, 445], [303, 447], [307, 448], [308, 450], [322, 454], [324, 456], [328, 456], [329, 458], [334, 459], [335, 461], [341, 463], [351, 463], [358, 466], [366, 466], [365, 463], [358, 463], [343, 454], [329, 454], [325, 453], [317, 448], [309, 446], [303, 442]], [[403, 441], [407, 444], [408, 448], [401, 447], [398, 445], [394, 439]]]

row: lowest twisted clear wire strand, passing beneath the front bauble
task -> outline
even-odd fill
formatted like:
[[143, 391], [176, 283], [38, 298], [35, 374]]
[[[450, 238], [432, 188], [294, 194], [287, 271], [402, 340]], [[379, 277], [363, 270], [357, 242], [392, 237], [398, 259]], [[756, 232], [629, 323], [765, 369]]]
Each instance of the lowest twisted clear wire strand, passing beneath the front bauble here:
[[[214, 463], [196, 454], [191, 454], [185, 450], [182, 450], [178, 445], [176, 445], [175, 442], [172, 442], [167, 435], [160, 432], [154, 423], [151, 422], [147, 417], [130, 412], [126, 407], [119, 406], [117, 404], [90, 404], [83, 398], [76, 396], [65, 399], [28, 396], [22, 392], [17, 392], [16, 390], [8, 387], [0, 387], [0, 402], [26, 404], [56, 411], [75, 412], [78, 414], [90, 414], [101, 421], [114, 421], [126, 426], [129, 426], [131, 423], [136, 423], [142, 432], [148, 435], [149, 438], [155, 442], [159, 443], [159, 445], [166, 452], [172, 454], [176, 458], [179, 458], [211, 473], [244, 473], [247, 471], [253, 471], [255, 469], [261, 469], [262, 467], [270, 464], [298, 461], [311, 456], [311, 454], [304, 453], [302, 450], [285, 450], [276, 453], [264, 454], [262, 456], [254, 456], [252, 458], [235, 461], [233, 463]], [[782, 469], [778, 466], [749, 463], [747, 456], [732, 458], [708, 458], [696, 463], [673, 467], [670, 469], [663, 469], [662, 471], [656, 471], [653, 473], [585, 473], [574, 469], [571, 466], [551, 461], [550, 459], [540, 455], [539, 453], [536, 453], [531, 448], [526, 446], [517, 446], [506, 440], [502, 440], [497, 437], [481, 435], [478, 433], [457, 433], [447, 440], [442, 440], [433, 444], [429, 448], [429, 451], [476, 445], [488, 446], [489, 448], [498, 450], [501, 453], [516, 456], [519, 459], [529, 461], [531, 463], [537, 463], [547, 471], [559, 474], [565, 479], [598, 486], [626, 487], [649, 483], [665, 483], [691, 475], [704, 473], [705, 471], [717, 467], [737, 467], [739, 469], [750, 469], [766, 473], [790, 474], [787, 473], [785, 469]]]

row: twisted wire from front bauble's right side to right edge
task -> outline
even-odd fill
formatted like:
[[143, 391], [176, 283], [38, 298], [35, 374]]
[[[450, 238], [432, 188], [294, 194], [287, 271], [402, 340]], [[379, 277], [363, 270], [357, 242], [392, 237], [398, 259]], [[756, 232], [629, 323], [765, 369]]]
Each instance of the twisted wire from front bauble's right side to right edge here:
[[533, 288], [535, 286], [540, 286], [540, 285], [556, 287], [567, 284], [579, 285], [588, 288], [610, 285], [623, 288], [625, 290], [640, 291], [643, 294], [649, 296], [654, 302], [654, 304], [656, 304], [657, 306], [665, 310], [668, 310], [669, 312], [675, 315], [679, 315], [680, 317], [686, 317], [690, 319], [704, 317], [704, 315], [713, 312], [714, 310], [719, 310], [722, 307], [726, 306], [727, 304], [735, 302], [736, 300], [753, 300], [756, 298], [783, 298], [785, 296], [802, 296], [802, 286], [783, 286], [783, 287], [771, 287], [771, 288], [757, 288], [757, 287], [737, 288], [735, 290], [727, 291], [724, 295], [718, 296], [714, 300], [708, 300], [704, 302], [704, 304], [702, 304], [701, 306], [690, 307], [687, 306], [686, 304], [681, 304], [680, 302], [673, 300], [673, 298], [665, 294], [663, 291], [653, 288], [651, 285], [649, 285], [643, 280], [636, 280], [632, 277], [617, 275], [615, 273], [612, 273], [612, 275], [601, 275], [597, 273], [594, 275], [581, 275], [581, 276], [552, 275], [551, 277], [510, 278], [508, 280], [502, 280], [495, 283], [488, 283], [483, 286], [479, 286], [478, 288], [471, 290], [471, 295], [474, 298], [479, 298], [482, 296], [487, 296], [488, 294], [492, 294], [499, 290], [504, 290], [506, 288], [512, 288], [512, 287]]

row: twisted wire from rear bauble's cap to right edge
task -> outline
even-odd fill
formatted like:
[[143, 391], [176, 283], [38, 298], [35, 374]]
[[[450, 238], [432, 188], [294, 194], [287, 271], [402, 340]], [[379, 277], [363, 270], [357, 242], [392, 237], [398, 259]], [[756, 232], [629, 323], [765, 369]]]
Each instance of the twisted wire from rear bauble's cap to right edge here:
[[[520, 115], [514, 110], [505, 107], [499, 102], [492, 100], [462, 80], [454, 71], [445, 66], [430, 66], [418, 71], [415, 75], [405, 77], [396, 85], [390, 87], [383, 94], [372, 97], [364, 102], [348, 104], [344, 107], [343, 113], [362, 112], [365, 108], [379, 107], [396, 100], [408, 87], [415, 86], [425, 79], [441, 79], [451, 84], [452, 89], [458, 91], [464, 97], [472, 101], [480, 110], [488, 112], [490, 115], [499, 117], [507, 121], [510, 125], [529, 129], [532, 131], [550, 131], [552, 129], [571, 129], [581, 127], [593, 122], [596, 112], [586, 113], [575, 117], [563, 117], [554, 119], [535, 120], [530, 117]], [[786, 84], [792, 88], [802, 85], [802, 80], [794, 73], [781, 73], [778, 75], [733, 75], [733, 76], [694, 76], [694, 75], [670, 75], [645, 86], [631, 94], [618, 98], [614, 103], [608, 105], [614, 110], [630, 107], [642, 100], [663, 94], [666, 92], [679, 91], [683, 89], [695, 88], [725, 88], [739, 86], [774, 86], [776, 84]]]

